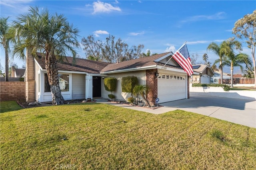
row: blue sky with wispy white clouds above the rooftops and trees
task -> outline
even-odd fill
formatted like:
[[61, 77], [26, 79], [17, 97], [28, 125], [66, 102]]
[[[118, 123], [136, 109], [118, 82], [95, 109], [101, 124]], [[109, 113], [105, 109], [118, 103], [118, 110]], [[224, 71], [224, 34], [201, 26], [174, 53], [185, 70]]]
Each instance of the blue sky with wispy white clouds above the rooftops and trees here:
[[[234, 23], [246, 14], [252, 14], [256, 1], [1, 0], [0, 15], [15, 20], [16, 16], [27, 12], [29, 6], [64, 14], [80, 30], [79, 40], [94, 35], [104, 41], [110, 34], [129, 46], [143, 44], [143, 52], [150, 49], [152, 53], [174, 53], [187, 41], [190, 55], [198, 54], [198, 62], [202, 62], [202, 55], [207, 53], [213, 63], [218, 57], [206, 51], [207, 46], [234, 37]], [[82, 46], [77, 51], [80, 58], [85, 58]], [[250, 55], [245, 44], [242, 52]], [[4, 68], [2, 49], [0, 55]], [[20, 67], [24, 64], [18, 59], [14, 59], [14, 63]], [[230, 72], [230, 69], [224, 71]], [[235, 73], [238, 72], [237, 68]]]

